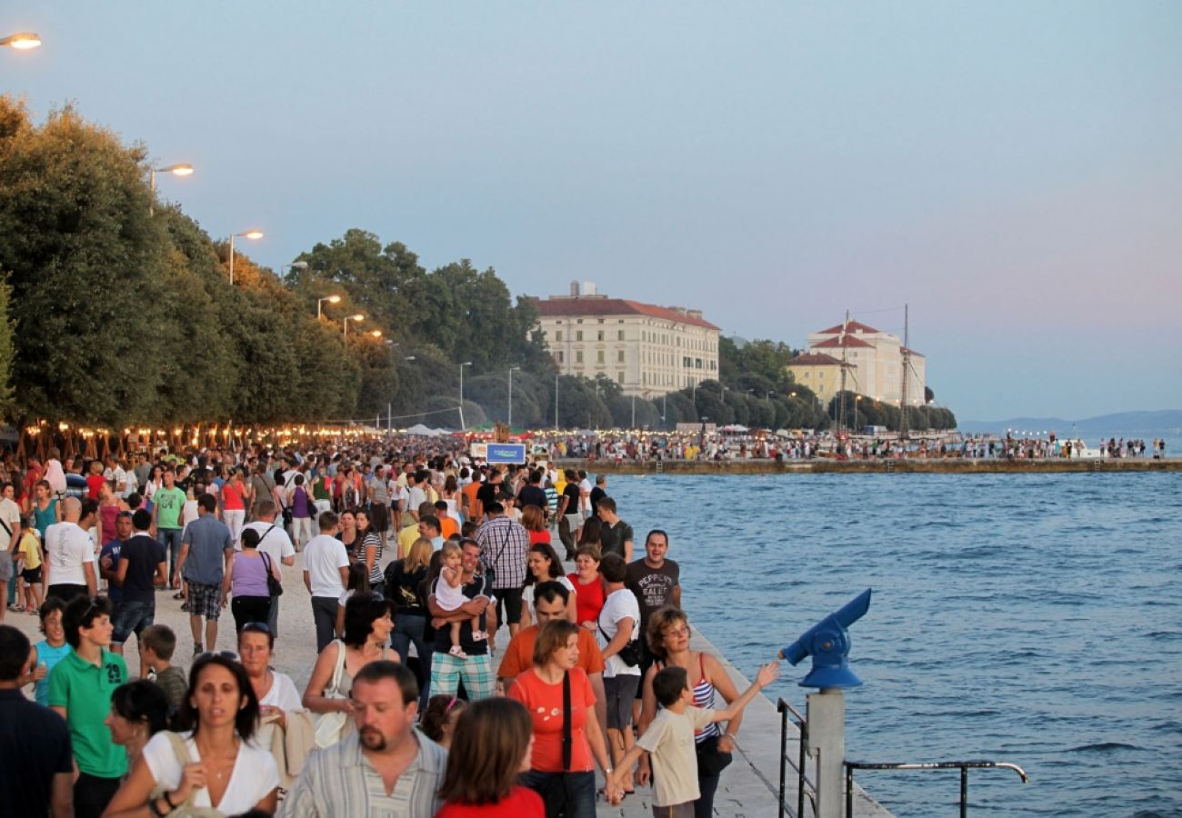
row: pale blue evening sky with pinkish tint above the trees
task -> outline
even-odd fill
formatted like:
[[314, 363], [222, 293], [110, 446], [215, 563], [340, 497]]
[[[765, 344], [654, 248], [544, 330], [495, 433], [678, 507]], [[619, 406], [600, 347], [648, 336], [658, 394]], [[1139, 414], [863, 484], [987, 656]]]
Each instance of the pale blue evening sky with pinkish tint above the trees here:
[[[352, 227], [515, 294], [846, 310], [963, 418], [1182, 408], [1182, 4], [8, 0], [0, 90], [279, 270]], [[246, 245], [246, 246], [243, 246]]]

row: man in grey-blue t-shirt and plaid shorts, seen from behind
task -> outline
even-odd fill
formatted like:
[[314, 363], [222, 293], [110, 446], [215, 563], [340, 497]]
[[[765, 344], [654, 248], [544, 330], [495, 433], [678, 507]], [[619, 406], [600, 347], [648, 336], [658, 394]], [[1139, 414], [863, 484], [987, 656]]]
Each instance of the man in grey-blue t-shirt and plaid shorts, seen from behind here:
[[229, 569], [234, 557], [234, 538], [229, 526], [217, 519], [217, 499], [213, 494], [197, 498], [197, 519], [184, 527], [176, 579], [184, 577], [189, 589], [189, 628], [193, 630], [193, 655], [204, 650], [201, 621], [206, 621], [209, 650], [217, 643], [217, 617], [229, 596]]

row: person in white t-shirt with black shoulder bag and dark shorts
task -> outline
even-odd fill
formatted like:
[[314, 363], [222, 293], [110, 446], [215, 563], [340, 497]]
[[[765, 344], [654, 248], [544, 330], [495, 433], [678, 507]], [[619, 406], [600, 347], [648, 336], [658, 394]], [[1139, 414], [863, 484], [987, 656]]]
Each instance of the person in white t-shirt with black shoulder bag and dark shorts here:
[[[632, 702], [641, 683], [641, 604], [624, 587], [628, 564], [617, 553], [599, 563], [604, 590], [603, 610], [596, 618], [596, 642], [603, 651], [603, 690], [608, 710], [608, 748], [619, 764], [632, 748]], [[631, 771], [624, 777], [625, 794], [632, 792]]]

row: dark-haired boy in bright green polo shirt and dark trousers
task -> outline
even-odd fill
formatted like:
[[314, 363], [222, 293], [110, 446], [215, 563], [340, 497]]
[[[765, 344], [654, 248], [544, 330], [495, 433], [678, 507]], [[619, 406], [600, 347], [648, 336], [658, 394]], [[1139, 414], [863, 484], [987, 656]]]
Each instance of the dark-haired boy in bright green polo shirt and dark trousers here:
[[76, 597], [61, 615], [66, 642], [73, 650], [50, 674], [50, 708], [70, 727], [78, 780], [74, 814], [103, 813], [128, 772], [128, 755], [111, 741], [106, 716], [111, 693], [128, 681], [123, 657], [111, 644], [111, 606], [105, 597]]

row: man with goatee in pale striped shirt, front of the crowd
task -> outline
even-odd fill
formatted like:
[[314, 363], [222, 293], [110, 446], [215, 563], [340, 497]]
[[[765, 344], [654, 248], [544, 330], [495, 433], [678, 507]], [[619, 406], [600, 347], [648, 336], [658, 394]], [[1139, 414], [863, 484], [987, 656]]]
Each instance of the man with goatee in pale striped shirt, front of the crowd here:
[[287, 818], [431, 818], [447, 751], [414, 728], [418, 683], [402, 664], [370, 662], [350, 695], [357, 732], [312, 754], [279, 807]]

